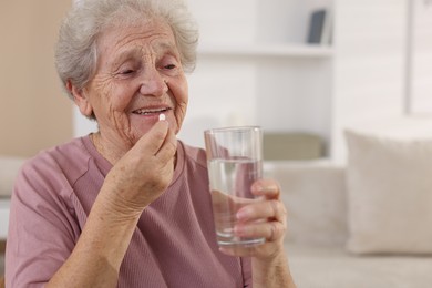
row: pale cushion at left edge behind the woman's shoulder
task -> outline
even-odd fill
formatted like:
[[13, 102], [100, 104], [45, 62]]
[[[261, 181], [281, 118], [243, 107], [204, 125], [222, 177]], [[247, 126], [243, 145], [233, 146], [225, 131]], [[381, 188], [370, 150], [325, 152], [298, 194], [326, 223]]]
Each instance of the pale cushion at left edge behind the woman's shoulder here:
[[13, 182], [24, 158], [0, 156], [0, 197], [9, 197], [13, 189]]

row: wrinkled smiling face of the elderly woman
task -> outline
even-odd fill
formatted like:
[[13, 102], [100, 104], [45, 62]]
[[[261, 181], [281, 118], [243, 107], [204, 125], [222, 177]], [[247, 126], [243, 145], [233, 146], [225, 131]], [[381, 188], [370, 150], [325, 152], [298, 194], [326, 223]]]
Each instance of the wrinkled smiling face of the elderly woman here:
[[85, 91], [103, 138], [132, 146], [161, 113], [178, 132], [187, 82], [166, 23], [109, 29], [97, 41], [97, 54], [96, 73]]

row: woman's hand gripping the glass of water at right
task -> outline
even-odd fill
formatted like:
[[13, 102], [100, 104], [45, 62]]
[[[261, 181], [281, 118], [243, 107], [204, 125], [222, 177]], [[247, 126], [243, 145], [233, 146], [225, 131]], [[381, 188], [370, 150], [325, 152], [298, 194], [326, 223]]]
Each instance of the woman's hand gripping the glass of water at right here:
[[266, 243], [250, 247], [220, 248], [220, 251], [232, 256], [271, 261], [284, 253], [287, 209], [280, 199], [280, 188], [276, 181], [259, 179], [251, 186], [251, 193], [264, 200], [238, 210], [234, 232], [238, 237], [263, 237]]

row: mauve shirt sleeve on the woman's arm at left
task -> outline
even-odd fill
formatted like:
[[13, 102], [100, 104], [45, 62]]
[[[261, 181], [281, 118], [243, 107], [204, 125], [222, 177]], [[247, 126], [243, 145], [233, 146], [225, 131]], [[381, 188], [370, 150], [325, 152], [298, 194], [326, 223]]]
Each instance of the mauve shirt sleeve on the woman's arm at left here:
[[68, 205], [70, 189], [53, 163], [24, 164], [11, 198], [7, 287], [42, 287], [71, 254], [80, 228]]

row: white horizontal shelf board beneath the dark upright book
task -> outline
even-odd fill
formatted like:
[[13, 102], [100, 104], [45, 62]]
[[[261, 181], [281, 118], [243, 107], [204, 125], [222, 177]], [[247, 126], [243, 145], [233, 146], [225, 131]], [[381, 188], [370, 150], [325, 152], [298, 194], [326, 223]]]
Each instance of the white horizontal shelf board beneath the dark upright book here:
[[277, 56], [277, 58], [330, 58], [329, 45], [307, 44], [200, 44], [202, 56]]

